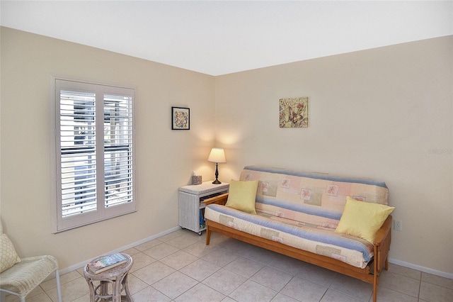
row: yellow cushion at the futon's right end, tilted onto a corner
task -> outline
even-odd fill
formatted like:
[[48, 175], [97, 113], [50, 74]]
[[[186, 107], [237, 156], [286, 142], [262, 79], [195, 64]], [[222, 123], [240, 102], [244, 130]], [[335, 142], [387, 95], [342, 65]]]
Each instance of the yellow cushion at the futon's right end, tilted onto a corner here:
[[356, 201], [348, 196], [343, 215], [335, 231], [360, 237], [373, 243], [377, 231], [392, 211], [394, 211], [394, 207]]

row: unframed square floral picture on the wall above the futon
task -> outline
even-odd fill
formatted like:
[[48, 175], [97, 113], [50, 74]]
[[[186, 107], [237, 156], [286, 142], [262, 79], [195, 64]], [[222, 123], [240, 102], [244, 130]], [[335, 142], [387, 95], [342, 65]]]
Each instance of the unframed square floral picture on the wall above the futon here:
[[309, 126], [309, 98], [280, 99], [280, 128]]

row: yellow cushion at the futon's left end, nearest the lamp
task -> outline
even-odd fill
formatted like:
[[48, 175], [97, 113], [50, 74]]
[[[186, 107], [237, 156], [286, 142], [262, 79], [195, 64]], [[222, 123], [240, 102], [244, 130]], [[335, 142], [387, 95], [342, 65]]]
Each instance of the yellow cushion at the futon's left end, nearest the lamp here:
[[231, 179], [229, 194], [225, 206], [236, 210], [256, 214], [255, 199], [258, 190], [258, 180], [239, 181]]

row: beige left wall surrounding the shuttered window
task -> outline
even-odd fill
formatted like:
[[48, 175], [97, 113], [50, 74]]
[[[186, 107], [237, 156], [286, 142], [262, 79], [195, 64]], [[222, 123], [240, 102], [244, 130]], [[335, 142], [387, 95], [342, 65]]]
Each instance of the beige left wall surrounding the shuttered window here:
[[[136, 87], [136, 213], [51, 234], [52, 74]], [[0, 213], [19, 254], [64, 269], [178, 226], [178, 187], [214, 173], [213, 100], [214, 77], [1, 28]], [[171, 130], [171, 106], [190, 107], [191, 130]]]

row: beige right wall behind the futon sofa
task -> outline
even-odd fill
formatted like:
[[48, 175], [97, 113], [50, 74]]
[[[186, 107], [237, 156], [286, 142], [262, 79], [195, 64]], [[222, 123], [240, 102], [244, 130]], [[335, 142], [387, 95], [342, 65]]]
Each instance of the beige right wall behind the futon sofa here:
[[[382, 179], [403, 222], [392, 260], [452, 276], [452, 45], [449, 36], [216, 77], [223, 180], [248, 164]], [[309, 97], [309, 128], [279, 128], [279, 99], [297, 96]]]

